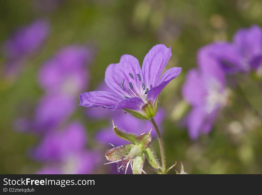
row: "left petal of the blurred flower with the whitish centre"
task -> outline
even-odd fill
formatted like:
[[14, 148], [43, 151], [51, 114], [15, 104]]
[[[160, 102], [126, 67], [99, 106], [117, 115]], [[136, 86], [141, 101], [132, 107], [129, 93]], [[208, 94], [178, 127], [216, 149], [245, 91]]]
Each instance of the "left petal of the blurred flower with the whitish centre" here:
[[182, 87], [182, 94], [185, 100], [192, 105], [204, 104], [207, 91], [202, 75], [196, 69], [188, 72]]

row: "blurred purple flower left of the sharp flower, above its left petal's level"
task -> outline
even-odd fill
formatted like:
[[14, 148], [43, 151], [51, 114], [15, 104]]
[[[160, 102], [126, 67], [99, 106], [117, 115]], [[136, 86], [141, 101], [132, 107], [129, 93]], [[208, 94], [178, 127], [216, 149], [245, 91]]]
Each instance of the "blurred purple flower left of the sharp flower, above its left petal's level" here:
[[86, 47], [65, 47], [42, 66], [39, 83], [47, 93], [75, 96], [88, 85], [86, 65], [90, 60]]

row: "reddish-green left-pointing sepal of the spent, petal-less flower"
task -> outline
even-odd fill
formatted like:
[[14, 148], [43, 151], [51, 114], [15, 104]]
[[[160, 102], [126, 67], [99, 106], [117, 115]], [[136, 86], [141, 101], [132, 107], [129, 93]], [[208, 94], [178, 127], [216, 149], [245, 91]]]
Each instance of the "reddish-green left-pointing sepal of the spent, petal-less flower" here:
[[131, 148], [133, 148], [133, 144], [126, 144], [123, 146], [117, 146], [115, 148], [111, 148], [110, 150], [107, 150], [105, 153], [105, 157], [108, 161], [117, 161], [120, 160], [123, 155], [127, 155], [127, 152], [130, 152]]

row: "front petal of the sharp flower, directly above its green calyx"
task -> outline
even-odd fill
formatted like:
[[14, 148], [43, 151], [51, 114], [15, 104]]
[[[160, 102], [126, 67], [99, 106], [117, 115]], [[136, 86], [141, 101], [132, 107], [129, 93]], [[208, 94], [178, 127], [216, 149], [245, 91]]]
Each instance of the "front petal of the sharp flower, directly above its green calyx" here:
[[132, 97], [128, 99], [123, 99], [121, 102], [116, 104], [116, 109], [131, 109], [138, 112], [141, 112], [141, 108], [144, 105], [144, 102], [139, 97]]

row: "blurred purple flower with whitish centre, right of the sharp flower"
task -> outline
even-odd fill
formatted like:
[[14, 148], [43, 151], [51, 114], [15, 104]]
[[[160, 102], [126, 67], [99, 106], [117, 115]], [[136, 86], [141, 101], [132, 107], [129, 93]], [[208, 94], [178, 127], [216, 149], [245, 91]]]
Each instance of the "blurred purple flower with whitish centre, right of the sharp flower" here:
[[206, 49], [199, 50], [199, 69], [188, 72], [182, 88], [183, 97], [192, 106], [187, 116], [191, 139], [211, 130], [217, 112], [227, 100], [224, 71], [214, 58], [205, 55]]

